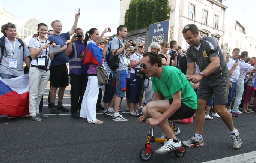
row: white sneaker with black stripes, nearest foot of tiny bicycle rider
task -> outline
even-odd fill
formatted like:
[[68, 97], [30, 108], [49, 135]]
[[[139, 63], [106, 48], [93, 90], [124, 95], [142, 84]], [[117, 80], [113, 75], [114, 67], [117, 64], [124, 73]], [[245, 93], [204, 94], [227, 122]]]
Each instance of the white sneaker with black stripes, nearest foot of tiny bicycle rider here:
[[181, 141], [179, 139], [177, 143], [173, 142], [173, 139], [169, 139], [168, 141], [165, 141], [164, 145], [158, 150], [156, 150], [155, 153], [158, 153], [158, 154], [169, 153], [170, 151], [181, 148], [181, 146], [182, 146]]

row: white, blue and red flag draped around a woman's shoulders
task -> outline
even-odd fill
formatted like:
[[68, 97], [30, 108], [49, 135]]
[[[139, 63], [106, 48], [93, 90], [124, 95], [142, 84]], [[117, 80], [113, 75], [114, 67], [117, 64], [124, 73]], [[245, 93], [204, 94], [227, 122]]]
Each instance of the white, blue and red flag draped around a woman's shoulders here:
[[103, 51], [92, 41], [88, 41], [85, 51], [84, 64], [93, 63], [102, 65]]

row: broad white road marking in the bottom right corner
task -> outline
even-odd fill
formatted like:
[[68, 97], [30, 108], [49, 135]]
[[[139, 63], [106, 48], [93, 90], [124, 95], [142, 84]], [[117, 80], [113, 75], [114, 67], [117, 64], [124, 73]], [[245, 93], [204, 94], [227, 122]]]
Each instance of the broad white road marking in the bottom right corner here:
[[204, 163], [255, 163], [256, 151], [225, 157], [218, 160], [211, 160]]

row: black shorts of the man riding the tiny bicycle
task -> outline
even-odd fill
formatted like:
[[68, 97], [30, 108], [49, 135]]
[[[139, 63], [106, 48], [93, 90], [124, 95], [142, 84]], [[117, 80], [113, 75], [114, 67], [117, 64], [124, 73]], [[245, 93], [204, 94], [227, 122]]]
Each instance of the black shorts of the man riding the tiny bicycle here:
[[[173, 102], [173, 99], [168, 99], [170, 105]], [[168, 120], [183, 120], [192, 117], [195, 114], [196, 110], [190, 108], [181, 102], [181, 107], [171, 116]]]

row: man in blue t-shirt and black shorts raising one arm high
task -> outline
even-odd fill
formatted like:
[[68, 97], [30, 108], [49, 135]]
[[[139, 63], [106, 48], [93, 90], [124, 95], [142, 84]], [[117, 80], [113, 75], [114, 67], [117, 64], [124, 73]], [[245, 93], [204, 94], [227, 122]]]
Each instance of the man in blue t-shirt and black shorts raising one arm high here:
[[[48, 37], [49, 41], [54, 41], [56, 45], [60, 45], [60, 53], [54, 52], [54, 58], [51, 60], [51, 90], [50, 90], [50, 101], [51, 101], [51, 113], [60, 114], [59, 110], [64, 112], [69, 112], [68, 109], [64, 108], [62, 105], [62, 99], [64, 96], [64, 91], [68, 85], [68, 68], [66, 63], [68, 63], [68, 57], [65, 54], [67, 48], [66, 41], [69, 40], [69, 37], [74, 34], [75, 29], [77, 28], [77, 22], [80, 17], [80, 12], [75, 14], [75, 22], [69, 32], [61, 33], [62, 24], [59, 20], [54, 20], [51, 23], [53, 28], [53, 34]], [[56, 91], [58, 91], [58, 105], [55, 106]]]

